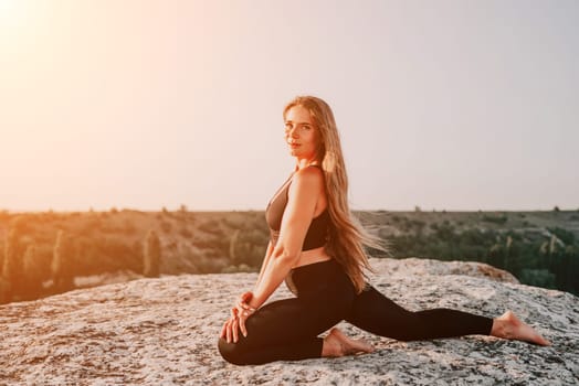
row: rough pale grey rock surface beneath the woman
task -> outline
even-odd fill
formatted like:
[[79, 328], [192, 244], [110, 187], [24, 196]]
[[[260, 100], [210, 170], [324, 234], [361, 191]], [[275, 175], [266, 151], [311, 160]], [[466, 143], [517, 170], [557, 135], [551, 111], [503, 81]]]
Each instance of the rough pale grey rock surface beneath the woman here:
[[[238, 367], [215, 349], [255, 274], [140, 279], [0, 307], [0, 384], [577, 385], [579, 299], [473, 262], [372, 260], [371, 281], [411, 310], [513, 310], [552, 346], [489, 336], [397, 342], [346, 323], [369, 355]], [[288, 297], [282, 286], [274, 299]]]

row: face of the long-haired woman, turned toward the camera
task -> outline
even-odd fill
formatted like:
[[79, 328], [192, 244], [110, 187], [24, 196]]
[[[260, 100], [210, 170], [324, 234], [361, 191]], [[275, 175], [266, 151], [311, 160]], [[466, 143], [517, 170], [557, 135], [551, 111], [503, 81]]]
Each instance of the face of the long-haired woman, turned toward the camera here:
[[314, 160], [318, 147], [318, 132], [309, 111], [294, 106], [285, 114], [285, 141], [297, 159]]

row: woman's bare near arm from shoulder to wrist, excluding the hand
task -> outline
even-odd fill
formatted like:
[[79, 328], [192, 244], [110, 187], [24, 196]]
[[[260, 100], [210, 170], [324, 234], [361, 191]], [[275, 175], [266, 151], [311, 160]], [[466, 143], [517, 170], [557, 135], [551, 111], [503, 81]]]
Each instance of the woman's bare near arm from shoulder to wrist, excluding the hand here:
[[299, 258], [319, 193], [323, 191], [324, 176], [317, 168], [305, 168], [294, 175], [277, 244], [267, 261], [264, 261], [253, 297], [248, 302], [250, 307], [260, 308], [280, 287]]

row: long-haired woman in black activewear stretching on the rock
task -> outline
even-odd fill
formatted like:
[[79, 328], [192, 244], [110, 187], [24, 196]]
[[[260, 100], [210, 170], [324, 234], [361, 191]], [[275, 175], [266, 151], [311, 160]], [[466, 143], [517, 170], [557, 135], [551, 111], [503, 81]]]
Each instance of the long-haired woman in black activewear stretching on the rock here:
[[[331, 109], [319, 98], [297, 97], [283, 117], [296, 167], [265, 212], [271, 240], [253, 290], [241, 294], [223, 324], [223, 358], [241, 365], [372, 352], [331, 329], [343, 320], [403, 341], [489, 334], [549, 344], [510, 311], [494, 320], [449, 309], [410, 312], [366, 283], [364, 245], [377, 243], [350, 215]], [[296, 298], [264, 305], [284, 279]]]

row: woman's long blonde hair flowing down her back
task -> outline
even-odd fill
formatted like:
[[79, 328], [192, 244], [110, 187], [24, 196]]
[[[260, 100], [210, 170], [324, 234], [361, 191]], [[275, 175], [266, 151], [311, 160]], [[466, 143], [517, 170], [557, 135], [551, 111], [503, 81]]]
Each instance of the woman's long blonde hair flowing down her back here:
[[385, 250], [385, 247], [379, 238], [364, 229], [350, 212], [348, 176], [331, 108], [317, 97], [298, 96], [285, 106], [284, 120], [287, 111], [294, 106], [302, 106], [309, 111], [319, 133], [316, 161], [324, 171], [328, 213], [331, 219], [326, 250], [340, 264], [359, 293], [366, 287], [365, 269], [371, 270], [364, 246], [380, 250]]

